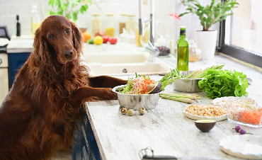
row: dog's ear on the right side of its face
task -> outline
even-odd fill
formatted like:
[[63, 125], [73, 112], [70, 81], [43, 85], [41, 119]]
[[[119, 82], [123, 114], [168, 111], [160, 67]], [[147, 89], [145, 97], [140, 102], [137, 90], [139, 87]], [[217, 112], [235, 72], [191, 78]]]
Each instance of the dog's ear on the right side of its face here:
[[82, 34], [81, 31], [79, 30], [79, 28], [77, 28], [76, 24], [71, 22], [72, 25], [72, 33], [73, 33], [73, 41], [74, 41], [74, 49], [77, 51], [77, 53], [79, 54], [82, 51], [82, 47], [83, 47], [83, 38], [82, 38]]

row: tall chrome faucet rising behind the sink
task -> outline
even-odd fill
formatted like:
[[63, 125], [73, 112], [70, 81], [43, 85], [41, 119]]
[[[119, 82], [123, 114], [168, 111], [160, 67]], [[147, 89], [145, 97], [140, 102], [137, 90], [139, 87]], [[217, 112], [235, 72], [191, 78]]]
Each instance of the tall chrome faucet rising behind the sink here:
[[154, 47], [154, 0], [150, 1], [150, 19], [146, 21], [142, 21], [142, 6], [143, 6], [143, 0], [139, 0], [139, 20], [138, 20], [138, 26], [139, 26], [139, 35], [143, 35], [143, 26], [144, 23], [147, 23], [150, 21], [150, 40], [148, 42], [148, 45], [146, 47], [147, 52], [149, 52], [149, 62], [153, 63], [156, 62], [155, 57], [159, 55], [159, 49]]

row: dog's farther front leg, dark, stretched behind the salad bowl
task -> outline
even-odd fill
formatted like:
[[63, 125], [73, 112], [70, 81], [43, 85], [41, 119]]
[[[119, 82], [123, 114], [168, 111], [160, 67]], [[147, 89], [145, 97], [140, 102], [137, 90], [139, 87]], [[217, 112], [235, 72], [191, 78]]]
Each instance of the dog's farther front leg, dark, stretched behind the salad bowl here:
[[115, 86], [120, 86], [127, 84], [127, 80], [117, 79], [112, 76], [90, 76], [90, 85], [95, 88], [114, 88]]

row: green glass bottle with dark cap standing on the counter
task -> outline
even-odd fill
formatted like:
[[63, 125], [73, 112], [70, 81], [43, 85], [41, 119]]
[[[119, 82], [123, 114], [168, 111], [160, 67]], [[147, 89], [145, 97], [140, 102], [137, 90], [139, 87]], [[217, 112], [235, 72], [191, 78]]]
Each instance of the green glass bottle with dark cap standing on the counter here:
[[186, 27], [184, 26], [180, 28], [180, 38], [177, 44], [176, 68], [179, 71], [188, 71], [188, 39], [186, 38]]

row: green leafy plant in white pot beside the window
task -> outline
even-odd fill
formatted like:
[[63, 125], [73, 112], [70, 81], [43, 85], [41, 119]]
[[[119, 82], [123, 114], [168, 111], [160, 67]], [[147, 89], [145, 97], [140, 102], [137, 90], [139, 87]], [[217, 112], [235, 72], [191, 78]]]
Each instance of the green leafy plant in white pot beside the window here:
[[203, 59], [212, 59], [215, 55], [215, 47], [217, 43], [217, 30], [210, 30], [210, 27], [220, 21], [223, 21], [227, 16], [231, 16], [233, 8], [237, 8], [236, 0], [212, 0], [210, 5], [201, 6], [198, 0], [181, 0], [182, 4], [187, 6], [187, 11], [181, 13], [179, 17], [195, 13], [199, 19], [203, 30], [195, 31], [195, 42], [202, 51]]

